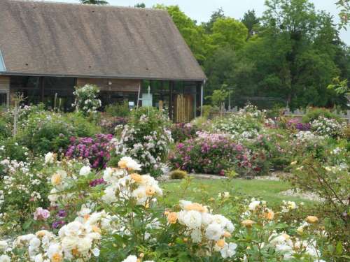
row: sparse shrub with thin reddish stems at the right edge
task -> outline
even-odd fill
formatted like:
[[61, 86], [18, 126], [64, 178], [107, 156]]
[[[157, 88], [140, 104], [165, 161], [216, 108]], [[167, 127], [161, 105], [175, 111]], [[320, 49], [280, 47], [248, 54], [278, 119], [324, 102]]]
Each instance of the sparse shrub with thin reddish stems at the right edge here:
[[[323, 217], [328, 238], [342, 242], [349, 252], [350, 155], [344, 147], [330, 147], [325, 154], [304, 154], [293, 163], [288, 180], [295, 188], [314, 192], [322, 199], [315, 214]], [[347, 240], [346, 240], [347, 239]]]

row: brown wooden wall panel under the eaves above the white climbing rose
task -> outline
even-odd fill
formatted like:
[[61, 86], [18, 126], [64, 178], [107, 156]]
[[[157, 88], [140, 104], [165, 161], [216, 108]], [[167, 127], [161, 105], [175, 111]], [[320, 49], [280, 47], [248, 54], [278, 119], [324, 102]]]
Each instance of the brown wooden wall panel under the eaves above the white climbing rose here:
[[78, 78], [76, 85], [97, 85], [101, 91], [109, 92], [139, 92], [141, 80], [123, 80], [123, 79], [106, 79], [106, 78]]

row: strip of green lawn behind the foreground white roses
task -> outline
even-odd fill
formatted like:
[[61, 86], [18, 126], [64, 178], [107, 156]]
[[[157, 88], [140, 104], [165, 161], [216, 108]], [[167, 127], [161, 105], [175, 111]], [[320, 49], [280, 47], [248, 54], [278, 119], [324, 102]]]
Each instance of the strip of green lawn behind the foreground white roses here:
[[165, 194], [163, 201], [174, 205], [180, 199], [203, 202], [211, 197], [216, 198], [219, 193], [228, 191], [230, 194], [244, 195], [246, 198], [259, 198], [271, 206], [281, 205], [283, 200], [304, 202], [311, 205], [313, 202], [293, 196], [283, 196], [280, 193], [290, 189], [290, 184], [283, 181], [271, 180], [172, 180], [161, 184]]

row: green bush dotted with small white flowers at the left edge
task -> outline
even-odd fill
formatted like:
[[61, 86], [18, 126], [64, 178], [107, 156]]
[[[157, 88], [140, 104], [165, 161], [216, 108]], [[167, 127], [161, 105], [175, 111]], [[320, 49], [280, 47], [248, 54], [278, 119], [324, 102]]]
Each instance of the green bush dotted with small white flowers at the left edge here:
[[48, 205], [48, 176], [38, 171], [41, 165], [8, 159], [0, 161], [0, 170], [5, 173], [0, 182], [1, 235], [31, 228], [27, 219], [36, 208]]

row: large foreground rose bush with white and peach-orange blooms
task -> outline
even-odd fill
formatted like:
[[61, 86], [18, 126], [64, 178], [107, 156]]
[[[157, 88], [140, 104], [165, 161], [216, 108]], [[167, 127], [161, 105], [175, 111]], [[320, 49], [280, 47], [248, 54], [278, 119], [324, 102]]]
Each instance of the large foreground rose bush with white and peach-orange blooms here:
[[[134, 159], [103, 173], [80, 175], [85, 166], [77, 167], [70, 161], [48, 164], [50, 207], [34, 208], [29, 234], [14, 235], [11, 248], [1, 241], [2, 259], [321, 262], [341, 261], [346, 254], [323, 234], [321, 217], [295, 219], [300, 208], [294, 202], [272, 210], [265, 201], [230, 191], [203, 204], [181, 200], [165, 206], [160, 185], [135, 173]], [[92, 187], [92, 177], [105, 183]]]

